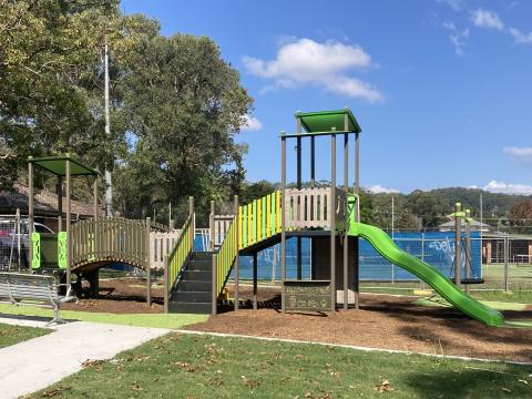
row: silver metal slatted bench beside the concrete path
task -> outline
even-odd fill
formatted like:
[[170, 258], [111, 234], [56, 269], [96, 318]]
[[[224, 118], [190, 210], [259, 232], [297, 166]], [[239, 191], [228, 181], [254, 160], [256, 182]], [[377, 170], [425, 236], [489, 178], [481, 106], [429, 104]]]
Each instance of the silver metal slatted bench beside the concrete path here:
[[0, 273], [0, 303], [11, 305], [32, 305], [53, 309], [53, 319], [49, 323], [64, 323], [60, 317], [61, 304], [75, 300], [70, 295], [58, 293], [59, 284], [53, 276], [21, 273]]

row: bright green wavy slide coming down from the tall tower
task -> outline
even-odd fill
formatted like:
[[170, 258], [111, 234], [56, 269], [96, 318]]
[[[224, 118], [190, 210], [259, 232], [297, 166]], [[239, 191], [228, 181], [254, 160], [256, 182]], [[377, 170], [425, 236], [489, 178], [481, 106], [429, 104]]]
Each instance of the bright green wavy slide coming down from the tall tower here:
[[429, 284], [438, 294], [466, 315], [488, 326], [501, 326], [504, 323], [504, 317], [500, 311], [482, 305], [477, 299], [466, 295], [441, 272], [398, 248], [388, 234], [380, 228], [350, 222], [349, 235], [368, 241], [380, 255]]

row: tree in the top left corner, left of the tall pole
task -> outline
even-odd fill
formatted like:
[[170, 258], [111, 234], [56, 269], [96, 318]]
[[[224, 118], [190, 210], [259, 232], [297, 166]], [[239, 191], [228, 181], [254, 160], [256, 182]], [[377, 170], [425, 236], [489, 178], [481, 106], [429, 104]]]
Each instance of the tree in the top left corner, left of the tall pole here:
[[88, 91], [106, 21], [116, 16], [117, 1], [0, 0], [3, 145], [25, 157], [102, 144]]

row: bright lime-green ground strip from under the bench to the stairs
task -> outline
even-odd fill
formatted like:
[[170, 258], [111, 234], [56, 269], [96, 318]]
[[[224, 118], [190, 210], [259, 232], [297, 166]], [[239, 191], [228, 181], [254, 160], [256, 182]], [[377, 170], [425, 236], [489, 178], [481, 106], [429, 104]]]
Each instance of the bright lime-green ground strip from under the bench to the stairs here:
[[[37, 306], [12, 306], [0, 304], [0, 314], [48, 317], [53, 316], [52, 309]], [[61, 318], [65, 320], [83, 320], [93, 323], [120, 324], [137, 327], [181, 328], [187, 324], [201, 323], [206, 315], [180, 315], [180, 314], [129, 314], [116, 315], [106, 313], [90, 313], [79, 310], [61, 310]]]

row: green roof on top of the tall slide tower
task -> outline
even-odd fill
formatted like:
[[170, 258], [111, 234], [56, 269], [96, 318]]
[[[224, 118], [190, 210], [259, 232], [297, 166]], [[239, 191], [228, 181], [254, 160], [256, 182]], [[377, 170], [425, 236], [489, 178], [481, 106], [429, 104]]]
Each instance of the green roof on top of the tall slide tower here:
[[[346, 115], [347, 130], [345, 125]], [[348, 108], [337, 111], [298, 112], [296, 117], [301, 119], [301, 126], [307, 133], [325, 133], [331, 132], [334, 129], [338, 132], [359, 133], [362, 131]]]

